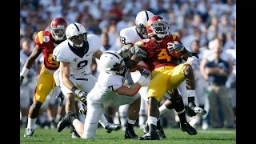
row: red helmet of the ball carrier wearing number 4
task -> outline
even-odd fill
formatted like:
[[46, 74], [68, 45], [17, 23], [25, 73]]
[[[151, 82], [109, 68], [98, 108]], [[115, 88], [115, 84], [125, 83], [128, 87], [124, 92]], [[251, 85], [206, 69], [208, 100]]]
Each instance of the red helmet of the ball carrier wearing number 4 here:
[[154, 15], [146, 23], [146, 31], [150, 37], [156, 35], [158, 38], [164, 38], [169, 33], [167, 22], [159, 15]]

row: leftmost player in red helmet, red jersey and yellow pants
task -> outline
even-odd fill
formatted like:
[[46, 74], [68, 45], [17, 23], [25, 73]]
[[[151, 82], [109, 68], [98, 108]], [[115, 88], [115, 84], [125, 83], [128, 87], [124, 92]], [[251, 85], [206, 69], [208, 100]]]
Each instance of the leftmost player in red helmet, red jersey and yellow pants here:
[[34, 126], [37, 121], [39, 110], [46, 96], [55, 86], [54, 71], [58, 69], [59, 62], [53, 59], [53, 50], [55, 46], [66, 40], [65, 30], [67, 22], [64, 18], [54, 18], [50, 23], [50, 31], [41, 30], [38, 32], [34, 42], [34, 50], [27, 58], [20, 73], [20, 85], [26, 77], [30, 68], [33, 66], [39, 54], [43, 55], [44, 66], [41, 69], [36, 88], [34, 90], [34, 102], [30, 106], [28, 123], [24, 137], [31, 137], [34, 134]]

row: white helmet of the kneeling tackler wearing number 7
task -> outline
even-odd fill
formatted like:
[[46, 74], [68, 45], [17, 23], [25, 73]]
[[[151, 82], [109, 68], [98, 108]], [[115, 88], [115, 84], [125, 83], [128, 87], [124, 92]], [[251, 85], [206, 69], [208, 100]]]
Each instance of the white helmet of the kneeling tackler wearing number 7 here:
[[126, 64], [123, 58], [114, 50], [106, 50], [99, 59], [99, 67], [109, 74], [123, 74]]

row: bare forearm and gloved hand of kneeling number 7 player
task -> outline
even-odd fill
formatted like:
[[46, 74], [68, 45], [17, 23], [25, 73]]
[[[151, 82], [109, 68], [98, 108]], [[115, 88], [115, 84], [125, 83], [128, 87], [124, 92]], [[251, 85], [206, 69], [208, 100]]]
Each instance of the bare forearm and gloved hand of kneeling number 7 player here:
[[127, 86], [121, 86], [117, 90], [114, 90], [117, 94], [120, 95], [127, 95], [133, 97], [135, 94], [138, 93], [138, 90], [142, 87], [144, 84], [146, 78], [150, 75], [150, 72], [147, 71], [146, 69], [139, 69], [141, 73], [141, 77], [138, 79], [136, 83], [134, 83], [132, 86], [127, 87]]

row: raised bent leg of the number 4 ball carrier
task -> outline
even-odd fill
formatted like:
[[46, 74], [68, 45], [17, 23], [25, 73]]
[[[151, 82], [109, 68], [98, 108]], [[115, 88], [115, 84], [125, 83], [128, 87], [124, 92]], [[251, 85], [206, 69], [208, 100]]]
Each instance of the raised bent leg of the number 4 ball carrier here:
[[195, 115], [205, 115], [206, 110], [202, 110], [201, 107], [198, 107], [194, 103], [195, 97], [195, 80], [193, 69], [189, 63], [179, 64], [174, 67], [174, 70], [171, 74], [170, 85], [168, 85], [168, 90], [172, 90], [181, 85], [185, 80], [186, 82], [186, 91], [188, 97], [188, 115], [190, 117]]

